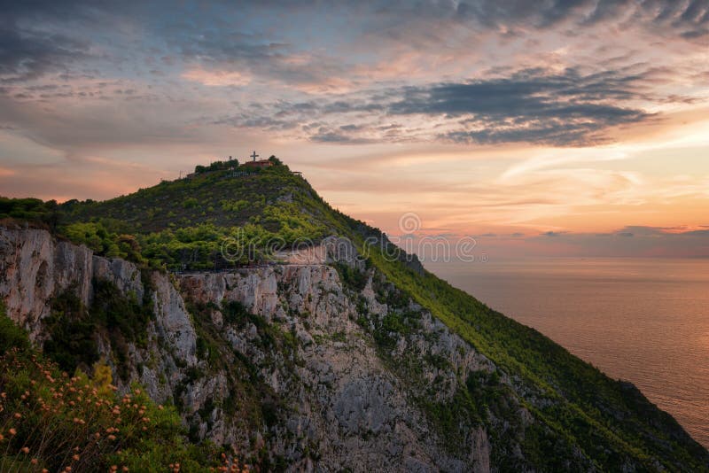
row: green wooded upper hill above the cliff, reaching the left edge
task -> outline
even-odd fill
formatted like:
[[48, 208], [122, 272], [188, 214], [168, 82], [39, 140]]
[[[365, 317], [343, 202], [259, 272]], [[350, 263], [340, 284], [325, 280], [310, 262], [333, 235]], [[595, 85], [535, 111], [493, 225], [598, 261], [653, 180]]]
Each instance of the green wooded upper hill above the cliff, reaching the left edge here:
[[0, 198], [0, 219], [33, 221], [98, 255], [153, 268], [261, 262], [282, 247], [332, 233], [324, 224], [331, 209], [300, 175], [273, 160], [266, 168], [215, 167], [105, 202]]

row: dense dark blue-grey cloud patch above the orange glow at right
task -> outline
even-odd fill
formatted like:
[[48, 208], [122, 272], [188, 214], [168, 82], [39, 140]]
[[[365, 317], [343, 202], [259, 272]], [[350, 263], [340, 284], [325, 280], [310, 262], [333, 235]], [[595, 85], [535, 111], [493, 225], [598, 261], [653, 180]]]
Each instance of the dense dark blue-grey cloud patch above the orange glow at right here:
[[606, 140], [604, 129], [649, 118], [643, 110], [619, 106], [637, 98], [635, 88], [642, 82], [643, 74], [622, 71], [527, 69], [508, 78], [405, 89], [389, 110], [464, 117], [464, 129], [441, 135], [459, 143], [597, 143]]

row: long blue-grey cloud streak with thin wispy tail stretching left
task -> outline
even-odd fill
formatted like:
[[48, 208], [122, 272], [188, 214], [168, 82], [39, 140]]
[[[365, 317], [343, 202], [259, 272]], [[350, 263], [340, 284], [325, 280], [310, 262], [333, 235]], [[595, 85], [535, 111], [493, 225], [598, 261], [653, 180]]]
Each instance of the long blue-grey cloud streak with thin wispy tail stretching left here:
[[[649, 98], [643, 90], [657, 81], [656, 71], [636, 69], [523, 69], [506, 77], [280, 100], [219, 122], [288, 130], [321, 143], [605, 143], [609, 129], [653, 117], [631, 104]], [[302, 125], [311, 120], [318, 126]], [[392, 121], [399, 124], [392, 128]]]

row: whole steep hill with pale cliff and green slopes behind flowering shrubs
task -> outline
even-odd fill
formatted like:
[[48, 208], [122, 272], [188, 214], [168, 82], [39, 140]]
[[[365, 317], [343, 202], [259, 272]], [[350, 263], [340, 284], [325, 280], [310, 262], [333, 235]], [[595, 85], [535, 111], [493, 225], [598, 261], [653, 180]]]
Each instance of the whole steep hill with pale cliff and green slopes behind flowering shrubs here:
[[[72, 320], [93, 357], [106, 357], [122, 386], [139, 380], [172, 400], [195, 441], [272, 468], [709, 469], [706, 450], [632, 384], [415, 258], [386, 257], [386, 236], [331, 209], [287, 167], [217, 171], [61, 212], [58, 231], [99, 255], [6, 225], [9, 314], [61, 359], [45, 339], [62, 337], [62, 315], [81, 313]], [[261, 261], [305, 238], [326, 257], [238, 268], [244, 259], [222, 256], [226, 238]], [[100, 256], [112, 252], [136, 263]], [[230, 271], [166, 275], [139, 268], [148, 262]]]

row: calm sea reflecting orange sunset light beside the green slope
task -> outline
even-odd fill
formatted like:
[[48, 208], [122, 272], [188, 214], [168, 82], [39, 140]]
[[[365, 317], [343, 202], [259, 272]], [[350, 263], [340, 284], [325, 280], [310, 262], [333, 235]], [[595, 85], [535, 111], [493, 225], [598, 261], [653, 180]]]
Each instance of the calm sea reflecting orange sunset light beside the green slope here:
[[425, 263], [609, 376], [633, 382], [709, 447], [709, 260]]

